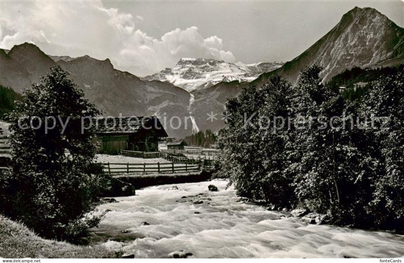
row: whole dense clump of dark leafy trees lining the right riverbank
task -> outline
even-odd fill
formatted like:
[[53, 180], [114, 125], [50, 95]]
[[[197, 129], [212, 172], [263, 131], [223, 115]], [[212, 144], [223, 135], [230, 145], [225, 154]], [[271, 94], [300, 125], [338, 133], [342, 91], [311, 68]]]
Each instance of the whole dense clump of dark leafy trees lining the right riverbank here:
[[[381, 69], [360, 101], [323, 85], [316, 65], [294, 88], [278, 76], [245, 88], [227, 102], [233, 118], [219, 132], [219, 173], [248, 198], [305, 206], [339, 225], [404, 231], [403, 69]], [[245, 113], [255, 114], [247, 126]], [[274, 116], [290, 117], [291, 127], [255, 127]]]

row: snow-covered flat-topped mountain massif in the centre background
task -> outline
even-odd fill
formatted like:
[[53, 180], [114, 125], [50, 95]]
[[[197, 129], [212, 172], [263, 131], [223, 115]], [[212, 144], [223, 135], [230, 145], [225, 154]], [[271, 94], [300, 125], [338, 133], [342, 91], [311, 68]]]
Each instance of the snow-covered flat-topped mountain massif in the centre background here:
[[146, 76], [143, 80], [160, 80], [170, 82], [187, 91], [208, 88], [219, 82], [250, 82], [260, 74], [270, 72], [283, 65], [282, 62], [261, 62], [244, 64], [227, 63], [215, 59], [183, 58], [173, 68], [166, 68], [159, 73]]

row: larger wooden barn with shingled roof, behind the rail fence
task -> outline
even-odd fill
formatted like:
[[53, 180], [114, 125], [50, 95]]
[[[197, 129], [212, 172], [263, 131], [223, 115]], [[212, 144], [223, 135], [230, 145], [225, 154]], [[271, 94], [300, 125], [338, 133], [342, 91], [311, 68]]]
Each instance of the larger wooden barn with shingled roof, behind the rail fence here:
[[156, 116], [97, 118], [97, 151], [100, 154], [120, 154], [121, 150], [154, 152], [158, 141], [168, 137]]

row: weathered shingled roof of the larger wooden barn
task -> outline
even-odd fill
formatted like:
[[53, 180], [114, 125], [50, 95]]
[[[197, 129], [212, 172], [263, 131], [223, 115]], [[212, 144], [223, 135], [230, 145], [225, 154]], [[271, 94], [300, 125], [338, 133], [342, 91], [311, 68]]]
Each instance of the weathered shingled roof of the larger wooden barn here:
[[97, 134], [129, 134], [153, 129], [158, 137], [168, 137], [156, 116], [97, 118], [94, 123]]

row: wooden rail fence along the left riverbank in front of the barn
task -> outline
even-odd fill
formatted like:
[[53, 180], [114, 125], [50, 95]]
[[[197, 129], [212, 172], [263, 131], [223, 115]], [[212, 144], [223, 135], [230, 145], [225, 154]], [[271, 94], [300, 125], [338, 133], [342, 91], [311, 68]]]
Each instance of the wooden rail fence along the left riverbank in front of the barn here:
[[143, 164], [130, 164], [130, 163], [104, 163], [103, 171], [109, 174], [117, 173], [175, 173], [180, 171], [198, 171], [200, 164], [174, 164], [172, 163], [143, 163]]

